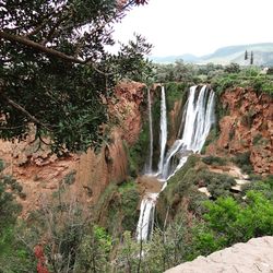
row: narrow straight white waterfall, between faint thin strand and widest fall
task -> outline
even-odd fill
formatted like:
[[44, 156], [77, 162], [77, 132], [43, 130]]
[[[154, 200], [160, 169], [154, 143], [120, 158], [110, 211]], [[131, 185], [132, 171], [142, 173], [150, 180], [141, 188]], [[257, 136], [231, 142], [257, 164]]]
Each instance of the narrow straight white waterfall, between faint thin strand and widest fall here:
[[161, 157], [158, 162], [158, 174], [163, 171], [164, 154], [167, 143], [167, 111], [166, 111], [166, 97], [165, 88], [162, 86], [162, 100], [161, 100]]

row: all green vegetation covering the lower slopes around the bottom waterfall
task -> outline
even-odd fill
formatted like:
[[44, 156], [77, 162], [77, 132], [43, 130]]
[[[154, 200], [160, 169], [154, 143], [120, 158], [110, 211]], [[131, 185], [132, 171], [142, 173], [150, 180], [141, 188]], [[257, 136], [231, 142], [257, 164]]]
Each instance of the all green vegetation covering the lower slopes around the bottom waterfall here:
[[[245, 163], [246, 157], [239, 161]], [[222, 161], [189, 157], [161, 193], [158, 221], [147, 242], [133, 238], [139, 216], [135, 182], [109, 185], [97, 205], [85, 209], [63, 183], [56, 198], [26, 221], [15, 224], [12, 216], [5, 227], [1, 225], [0, 272], [36, 272], [33, 250], [41, 241], [49, 272], [156, 273], [238, 241], [273, 235], [272, 177], [246, 186], [246, 198], [235, 199], [228, 193], [230, 177], [210, 173], [203, 162]], [[198, 192], [197, 186], [211, 186], [215, 200]], [[159, 211], [163, 202], [165, 210]], [[5, 202], [12, 210], [14, 200]]]

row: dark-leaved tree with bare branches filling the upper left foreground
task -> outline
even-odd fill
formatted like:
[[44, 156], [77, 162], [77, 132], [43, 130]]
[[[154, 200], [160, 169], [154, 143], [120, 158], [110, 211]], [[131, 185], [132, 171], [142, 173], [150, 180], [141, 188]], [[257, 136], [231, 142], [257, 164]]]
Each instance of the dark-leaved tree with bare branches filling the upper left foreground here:
[[112, 24], [145, 2], [1, 1], [0, 138], [23, 140], [31, 122], [54, 151], [98, 146], [114, 85], [150, 71], [141, 36], [118, 55], [105, 49], [115, 44]]

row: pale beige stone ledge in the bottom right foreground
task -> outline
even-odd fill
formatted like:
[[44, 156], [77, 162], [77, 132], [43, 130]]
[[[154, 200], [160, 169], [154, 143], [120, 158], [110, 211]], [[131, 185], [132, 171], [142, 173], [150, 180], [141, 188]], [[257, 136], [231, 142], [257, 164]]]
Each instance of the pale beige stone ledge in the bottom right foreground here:
[[272, 273], [273, 237], [254, 238], [246, 244], [216, 251], [206, 258], [169, 269], [166, 273]]

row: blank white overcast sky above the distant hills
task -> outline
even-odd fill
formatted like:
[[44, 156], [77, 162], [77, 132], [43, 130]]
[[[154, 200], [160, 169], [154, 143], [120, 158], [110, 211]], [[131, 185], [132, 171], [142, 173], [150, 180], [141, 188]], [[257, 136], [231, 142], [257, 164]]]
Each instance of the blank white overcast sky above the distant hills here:
[[152, 56], [212, 54], [219, 47], [273, 43], [273, 0], [149, 0], [116, 25], [126, 43], [133, 33], [153, 44]]

